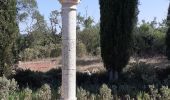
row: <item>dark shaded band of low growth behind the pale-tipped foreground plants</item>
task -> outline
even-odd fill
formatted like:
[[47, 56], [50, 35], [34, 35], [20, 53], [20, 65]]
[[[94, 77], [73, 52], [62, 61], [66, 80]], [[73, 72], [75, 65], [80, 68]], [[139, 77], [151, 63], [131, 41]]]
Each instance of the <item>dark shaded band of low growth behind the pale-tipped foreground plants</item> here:
[[[77, 72], [77, 87], [81, 87], [93, 94], [99, 93], [102, 84], [107, 84], [112, 91], [116, 87], [118, 95], [129, 94], [136, 96], [141, 91], [148, 91], [149, 85], [157, 87], [170, 86], [170, 68], [157, 69], [151, 64], [132, 63], [120, 74], [117, 81], [109, 82], [106, 71], [92, 73]], [[30, 70], [18, 70], [13, 76], [20, 88], [30, 87], [33, 90], [47, 83], [52, 89], [61, 86], [61, 69], [51, 69], [48, 72], [33, 72]]]

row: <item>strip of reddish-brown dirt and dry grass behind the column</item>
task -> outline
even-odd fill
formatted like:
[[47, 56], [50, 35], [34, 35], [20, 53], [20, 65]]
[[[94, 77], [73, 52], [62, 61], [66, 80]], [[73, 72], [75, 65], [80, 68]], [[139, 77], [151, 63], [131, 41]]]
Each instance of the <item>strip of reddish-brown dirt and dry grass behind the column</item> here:
[[[52, 58], [52, 59], [41, 59], [34, 60], [28, 62], [20, 62], [18, 64], [19, 68], [22, 69], [30, 69], [33, 71], [41, 71], [46, 72], [52, 68], [61, 68], [61, 57]], [[166, 68], [170, 66], [170, 61], [166, 59], [164, 56], [157, 56], [151, 58], [139, 58], [139, 57], [131, 57], [129, 63], [139, 63], [144, 62], [146, 64], [151, 64], [155, 68]], [[100, 57], [83, 57], [77, 58], [77, 71], [78, 72], [91, 72], [95, 73], [101, 70], [105, 70], [103, 67], [103, 62]]]

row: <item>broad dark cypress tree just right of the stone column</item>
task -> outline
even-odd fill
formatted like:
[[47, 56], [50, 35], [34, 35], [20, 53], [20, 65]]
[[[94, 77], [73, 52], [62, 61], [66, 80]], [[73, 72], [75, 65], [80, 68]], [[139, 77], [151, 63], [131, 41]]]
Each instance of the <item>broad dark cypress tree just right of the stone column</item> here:
[[99, 0], [99, 4], [101, 56], [113, 81], [130, 58], [138, 0]]

